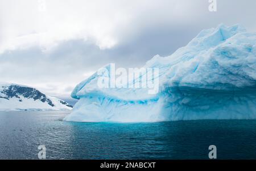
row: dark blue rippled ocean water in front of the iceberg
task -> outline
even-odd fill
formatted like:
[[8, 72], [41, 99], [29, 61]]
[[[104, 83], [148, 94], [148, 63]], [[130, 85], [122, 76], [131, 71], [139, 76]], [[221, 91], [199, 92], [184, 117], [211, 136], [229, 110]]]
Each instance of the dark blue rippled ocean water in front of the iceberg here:
[[64, 122], [68, 112], [0, 112], [0, 159], [256, 159], [255, 120]]

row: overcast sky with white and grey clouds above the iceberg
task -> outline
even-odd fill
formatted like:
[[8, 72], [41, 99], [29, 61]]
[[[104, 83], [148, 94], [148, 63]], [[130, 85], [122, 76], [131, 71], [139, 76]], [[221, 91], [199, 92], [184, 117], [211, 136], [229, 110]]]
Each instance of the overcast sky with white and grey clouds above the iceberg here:
[[255, 0], [217, 0], [217, 12], [208, 6], [208, 0], [0, 0], [0, 82], [67, 99], [107, 63], [142, 67], [201, 29], [240, 23], [256, 32]]

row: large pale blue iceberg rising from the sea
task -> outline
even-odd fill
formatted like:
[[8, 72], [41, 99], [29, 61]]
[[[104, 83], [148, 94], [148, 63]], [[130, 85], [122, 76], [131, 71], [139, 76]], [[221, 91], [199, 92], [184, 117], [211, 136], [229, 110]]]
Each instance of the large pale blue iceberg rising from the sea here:
[[79, 101], [64, 120], [256, 119], [256, 33], [240, 25], [205, 29], [174, 54], [156, 55], [144, 66], [150, 67], [159, 69], [158, 93], [150, 94], [147, 88], [98, 88], [102, 75], [96, 72], [73, 90], [72, 97]]

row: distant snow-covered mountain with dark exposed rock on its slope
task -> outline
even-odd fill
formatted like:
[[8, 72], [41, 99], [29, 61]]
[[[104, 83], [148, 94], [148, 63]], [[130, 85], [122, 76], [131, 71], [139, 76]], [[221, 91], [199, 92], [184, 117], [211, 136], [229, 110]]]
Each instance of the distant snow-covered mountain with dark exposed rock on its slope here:
[[35, 88], [0, 83], [0, 110], [71, 110], [72, 105]]

